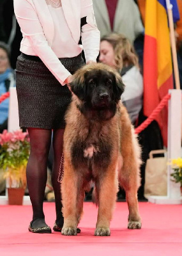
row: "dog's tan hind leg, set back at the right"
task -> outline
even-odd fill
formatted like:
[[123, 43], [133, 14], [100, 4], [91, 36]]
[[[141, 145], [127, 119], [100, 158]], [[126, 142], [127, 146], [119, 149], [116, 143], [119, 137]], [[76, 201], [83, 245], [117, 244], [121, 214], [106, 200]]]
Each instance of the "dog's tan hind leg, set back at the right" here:
[[[125, 132], [125, 127], [122, 128]], [[135, 138], [133, 129], [129, 127], [127, 136], [122, 137], [121, 154], [123, 166], [119, 171], [119, 182], [126, 191], [126, 202], [128, 204], [128, 228], [141, 228], [139, 207], [137, 200], [137, 189], [140, 184], [140, 148]]]

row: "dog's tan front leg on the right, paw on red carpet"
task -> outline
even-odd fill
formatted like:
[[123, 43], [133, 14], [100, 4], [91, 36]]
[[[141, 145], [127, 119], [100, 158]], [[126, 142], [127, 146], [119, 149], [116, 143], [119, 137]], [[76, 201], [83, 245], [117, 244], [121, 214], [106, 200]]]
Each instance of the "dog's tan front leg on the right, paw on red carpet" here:
[[116, 203], [118, 192], [118, 173], [111, 166], [104, 173], [102, 179], [96, 181], [96, 194], [98, 196], [98, 218], [95, 236], [110, 236], [110, 220]]

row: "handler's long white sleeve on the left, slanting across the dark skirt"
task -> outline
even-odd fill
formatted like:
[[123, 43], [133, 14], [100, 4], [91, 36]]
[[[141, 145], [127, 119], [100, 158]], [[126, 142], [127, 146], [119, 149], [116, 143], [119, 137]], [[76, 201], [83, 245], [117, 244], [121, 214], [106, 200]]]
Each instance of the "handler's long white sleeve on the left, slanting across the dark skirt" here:
[[14, 11], [21, 31], [31, 42], [36, 55], [49, 68], [59, 83], [64, 85], [64, 81], [71, 74], [49, 46], [33, 5], [28, 0], [16, 0], [14, 1]]

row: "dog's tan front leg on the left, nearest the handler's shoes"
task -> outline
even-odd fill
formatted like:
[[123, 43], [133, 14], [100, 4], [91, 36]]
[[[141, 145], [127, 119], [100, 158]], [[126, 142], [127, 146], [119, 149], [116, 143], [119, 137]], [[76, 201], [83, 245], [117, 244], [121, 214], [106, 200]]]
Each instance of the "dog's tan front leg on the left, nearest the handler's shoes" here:
[[64, 225], [61, 230], [61, 234], [64, 236], [76, 236], [77, 235], [77, 198], [79, 192], [79, 177], [75, 170], [73, 170], [72, 164], [66, 161], [64, 158], [64, 176], [61, 184], [61, 193], [63, 200], [63, 217]]

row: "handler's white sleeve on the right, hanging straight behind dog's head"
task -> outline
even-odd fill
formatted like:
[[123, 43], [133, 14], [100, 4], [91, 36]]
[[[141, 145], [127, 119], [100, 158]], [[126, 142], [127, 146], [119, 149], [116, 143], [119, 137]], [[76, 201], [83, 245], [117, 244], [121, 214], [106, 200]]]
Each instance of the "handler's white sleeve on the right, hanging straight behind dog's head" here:
[[81, 29], [82, 45], [84, 47], [86, 62], [96, 61], [100, 49], [100, 31], [96, 26], [92, 0], [81, 0], [81, 18], [82, 17], [86, 17], [87, 22]]

